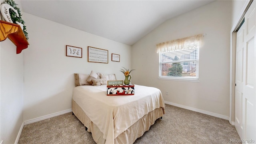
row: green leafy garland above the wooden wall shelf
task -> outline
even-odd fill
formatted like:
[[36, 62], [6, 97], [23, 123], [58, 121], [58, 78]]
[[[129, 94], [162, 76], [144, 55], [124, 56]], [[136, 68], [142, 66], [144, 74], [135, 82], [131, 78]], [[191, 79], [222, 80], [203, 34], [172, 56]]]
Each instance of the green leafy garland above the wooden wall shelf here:
[[[5, 3], [5, 4], [9, 4], [9, 5], [12, 6], [15, 10], [18, 11], [19, 17], [17, 17], [17, 16], [16, 16], [16, 13], [15, 13], [12, 9], [10, 9], [10, 12], [9, 12], [9, 13], [10, 13], [12, 22], [13, 22], [14, 24], [16, 24], [16, 22], [20, 22], [20, 23], [22, 23], [22, 24], [24, 25], [25, 22], [24, 22], [24, 20], [22, 20], [22, 18], [21, 18], [22, 15], [20, 14], [20, 8], [17, 7], [18, 4], [16, 4], [16, 3], [14, 2], [14, 0], [5, 0], [4, 3]], [[23, 32], [24, 32], [24, 35], [26, 36], [26, 39], [28, 40], [28, 32], [26, 32], [26, 30], [27, 30], [27, 28], [26, 28], [26, 26], [24, 25], [24, 26], [23, 26]]]

